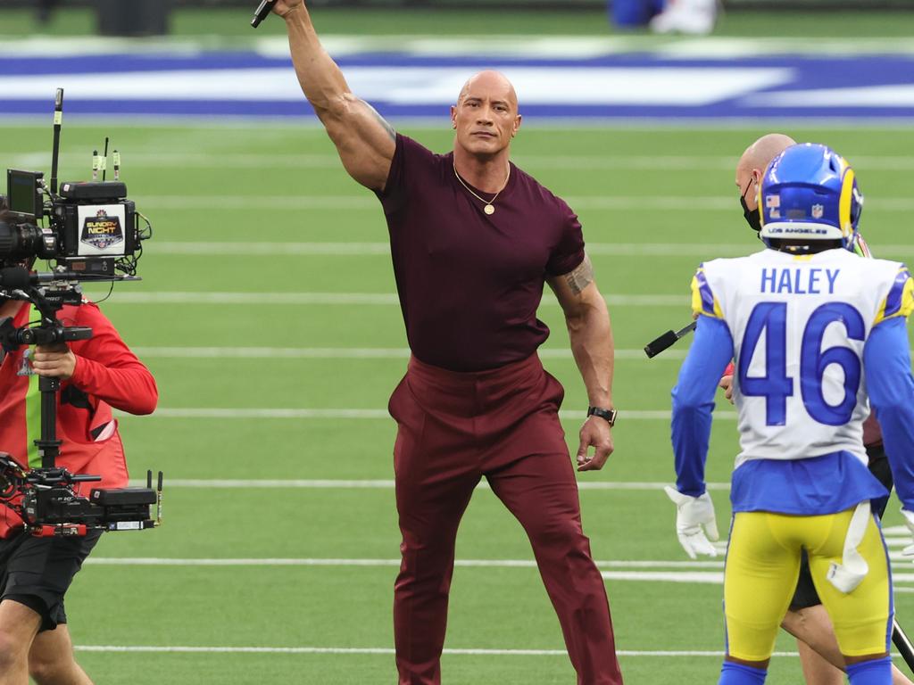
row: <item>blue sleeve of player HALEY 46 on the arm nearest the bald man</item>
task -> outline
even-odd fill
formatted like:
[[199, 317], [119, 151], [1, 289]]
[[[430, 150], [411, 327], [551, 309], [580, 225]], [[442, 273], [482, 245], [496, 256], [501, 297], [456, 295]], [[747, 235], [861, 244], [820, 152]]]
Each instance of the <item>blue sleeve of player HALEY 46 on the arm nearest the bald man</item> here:
[[705, 492], [705, 458], [711, 412], [721, 374], [733, 358], [733, 338], [725, 321], [698, 317], [695, 342], [673, 388], [673, 453], [676, 490], [698, 497]]

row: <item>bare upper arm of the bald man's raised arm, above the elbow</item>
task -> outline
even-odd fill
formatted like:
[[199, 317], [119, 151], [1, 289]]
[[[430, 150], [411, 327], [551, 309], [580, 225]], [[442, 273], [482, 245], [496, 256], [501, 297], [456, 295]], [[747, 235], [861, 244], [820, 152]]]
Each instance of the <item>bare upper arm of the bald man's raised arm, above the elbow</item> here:
[[318, 111], [346, 172], [371, 190], [384, 190], [397, 149], [397, 133], [365, 100], [346, 93]]

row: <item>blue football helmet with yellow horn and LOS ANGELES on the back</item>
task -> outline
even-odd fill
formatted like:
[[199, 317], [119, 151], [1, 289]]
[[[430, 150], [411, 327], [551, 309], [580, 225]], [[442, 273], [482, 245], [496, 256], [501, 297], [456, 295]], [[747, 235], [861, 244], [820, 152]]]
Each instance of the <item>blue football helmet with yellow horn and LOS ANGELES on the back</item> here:
[[854, 170], [831, 148], [804, 142], [771, 160], [759, 186], [760, 237], [841, 240], [853, 250], [863, 209]]

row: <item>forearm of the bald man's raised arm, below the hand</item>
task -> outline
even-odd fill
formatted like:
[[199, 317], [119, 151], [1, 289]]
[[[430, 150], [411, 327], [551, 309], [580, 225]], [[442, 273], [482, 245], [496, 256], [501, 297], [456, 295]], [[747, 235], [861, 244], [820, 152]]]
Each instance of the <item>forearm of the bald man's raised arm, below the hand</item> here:
[[352, 98], [349, 86], [343, 72], [321, 45], [307, 8], [296, 5], [284, 18], [295, 75], [304, 96], [324, 121], [335, 110], [345, 107], [347, 96]]

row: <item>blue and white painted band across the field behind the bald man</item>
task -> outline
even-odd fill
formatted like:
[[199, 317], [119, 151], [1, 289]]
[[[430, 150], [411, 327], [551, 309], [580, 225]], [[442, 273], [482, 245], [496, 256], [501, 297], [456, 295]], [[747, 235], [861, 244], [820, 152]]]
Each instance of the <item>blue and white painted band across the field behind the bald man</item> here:
[[[900, 119], [914, 121], [914, 57], [754, 56], [581, 59], [373, 53], [337, 59], [352, 90], [382, 115], [446, 116], [462, 81], [498, 68], [529, 118], [562, 120]], [[68, 113], [309, 117], [286, 58], [256, 52], [0, 56], [0, 114], [46, 114], [54, 90]]]

